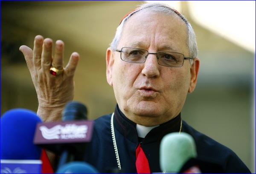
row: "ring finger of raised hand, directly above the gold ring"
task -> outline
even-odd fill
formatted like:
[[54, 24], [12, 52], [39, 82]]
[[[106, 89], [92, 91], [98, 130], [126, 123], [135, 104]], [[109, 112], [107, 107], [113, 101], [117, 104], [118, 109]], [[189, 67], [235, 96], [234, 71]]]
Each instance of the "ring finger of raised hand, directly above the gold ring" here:
[[64, 42], [57, 40], [55, 43], [54, 57], [52, 59], [52, 66], [57, 69], [63, 68], [63, 53], [64, 53]]

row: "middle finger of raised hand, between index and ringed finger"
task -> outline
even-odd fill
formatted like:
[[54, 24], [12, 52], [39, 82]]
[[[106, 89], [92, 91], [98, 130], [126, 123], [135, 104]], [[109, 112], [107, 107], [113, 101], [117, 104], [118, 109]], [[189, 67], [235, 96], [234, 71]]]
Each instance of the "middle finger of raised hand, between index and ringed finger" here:
[[42, 57], [41, 57], [41, 67], [44, 71], [50, 69], [52, 63], [52, 39], [44, 39]]

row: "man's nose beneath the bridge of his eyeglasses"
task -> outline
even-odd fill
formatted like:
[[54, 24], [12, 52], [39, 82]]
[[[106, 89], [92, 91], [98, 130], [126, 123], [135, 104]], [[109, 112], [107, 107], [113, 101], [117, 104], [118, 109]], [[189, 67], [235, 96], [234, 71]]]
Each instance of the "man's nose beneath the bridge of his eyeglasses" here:
[[148, 54], [148, 57], [143, 64], [142, 74], [147, 77], [157, 77], [160, 75], [157, 55]]

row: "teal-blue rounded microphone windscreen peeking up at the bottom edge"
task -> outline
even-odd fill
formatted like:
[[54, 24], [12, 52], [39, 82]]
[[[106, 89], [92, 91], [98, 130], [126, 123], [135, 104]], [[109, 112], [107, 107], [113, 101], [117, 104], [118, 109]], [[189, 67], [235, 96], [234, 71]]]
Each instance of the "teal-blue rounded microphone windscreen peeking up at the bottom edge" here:
[[70, 162], [61, 166], [56, 174], [97, 174], [99, 171], [96, 170], [92, 165], [84, 162]]

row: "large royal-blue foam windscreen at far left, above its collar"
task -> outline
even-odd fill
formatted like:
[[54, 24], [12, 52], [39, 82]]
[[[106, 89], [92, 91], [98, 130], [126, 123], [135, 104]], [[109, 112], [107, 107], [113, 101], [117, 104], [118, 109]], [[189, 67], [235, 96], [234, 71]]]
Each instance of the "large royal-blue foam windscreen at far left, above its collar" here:
[[41, 148], [34, 145], [37, 123], [42, 122], [28, 109], [11, 109], [1, 116], [0, 154], [5, 160], [39, 160]]

